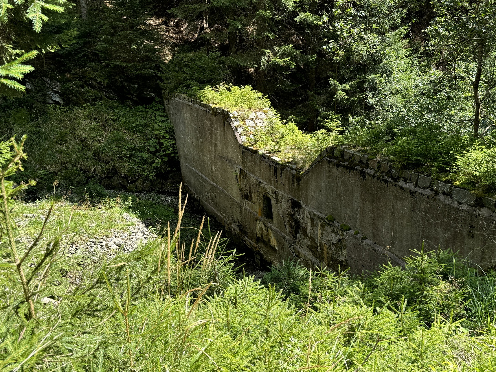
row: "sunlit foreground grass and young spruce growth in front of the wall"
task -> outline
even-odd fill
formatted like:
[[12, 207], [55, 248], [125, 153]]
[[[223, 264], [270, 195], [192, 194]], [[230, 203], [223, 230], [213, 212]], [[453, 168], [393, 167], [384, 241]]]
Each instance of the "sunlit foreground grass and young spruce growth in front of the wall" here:
[[0, 371], [496, 370], [496, 275], [452, 251], [358, 277], [285, 261], [254, 281], [221, 232], [182, 225], [180, 195], [158, 238], [81, 264], [67, 237], [129, 203], [39, 203], [33, 242], [17, 240], [28, 184], [8, 177], [25, 154], [0, 147]]

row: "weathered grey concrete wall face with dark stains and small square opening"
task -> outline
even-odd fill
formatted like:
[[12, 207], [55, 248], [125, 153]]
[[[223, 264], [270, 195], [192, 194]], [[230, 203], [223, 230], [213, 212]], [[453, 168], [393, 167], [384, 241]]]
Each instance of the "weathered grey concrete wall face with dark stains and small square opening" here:
[[397, 170], [341, 148], [328, 148], [302, 174], [244, 146], [225, 110], [179, 95], [165, 106], [187, 186], [274, 264], [297, 257], [361, 273], [388, 261], [404, 265], [423, 241], [460, 250], [483, 268], [496, 263], [496, 213], [488, 207], [395, 178]]

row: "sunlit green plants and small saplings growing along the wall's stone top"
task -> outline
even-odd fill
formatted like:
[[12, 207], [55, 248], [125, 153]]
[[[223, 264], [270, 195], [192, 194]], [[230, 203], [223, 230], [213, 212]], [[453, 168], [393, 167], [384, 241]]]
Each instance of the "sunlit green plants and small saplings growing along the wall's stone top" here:
[[[425, 130], [409, 127], [402, 135], [397, 133], [385, 151], [378, 151], [387, 128], [346, 127], [340, 115], [326, 112], [320, 117], [320, 129], [305, 132], [291, 119], [282, 120], [269, 99], [250, 86], [207, 86], [197, 97], [230, 111], [244, 144], [301, 169], [306, 169], [326, 147], [347, 144], [371, 156], [386, 158], [396, 166], [413, 166], [421, 173], [482, 195], [496, 191], [494, 147], [481, 142], [470, 146], [470, 137], [442, 131], [440, 123], [426, 126]], [[442, 134], [437, 133], [439, 130]]]

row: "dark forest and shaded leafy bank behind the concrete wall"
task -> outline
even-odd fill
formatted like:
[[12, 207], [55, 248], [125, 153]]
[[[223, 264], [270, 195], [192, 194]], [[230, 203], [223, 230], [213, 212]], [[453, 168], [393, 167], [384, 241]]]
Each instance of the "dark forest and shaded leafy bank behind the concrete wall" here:
[[496, 191], [494, 1], [2, 1], [0, 65], [25, 67], [2, 73], [0, 130], [28, 134], [39, 179], [153, 187], [178, 168], [162, 91], [226, 83], [303, 131], [338, 120], [343, 143]]

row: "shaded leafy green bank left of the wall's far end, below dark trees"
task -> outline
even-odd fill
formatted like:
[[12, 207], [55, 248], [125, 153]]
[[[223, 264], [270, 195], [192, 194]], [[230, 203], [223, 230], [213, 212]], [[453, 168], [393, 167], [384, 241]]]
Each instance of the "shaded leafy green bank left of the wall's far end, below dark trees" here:
[[33, 154], [19, 182], [34, 179], [41, 191], [54, 180], [66, 188], [102, 179], [118, 188], [150, 184], [176, 167], [174, 128], [156, 101], [135, 108], [112, 101], [50, 105], [42, 115], [33, 115], [26, 105], [1, 112], [0, 131], [26, 133], [26, 148]]

